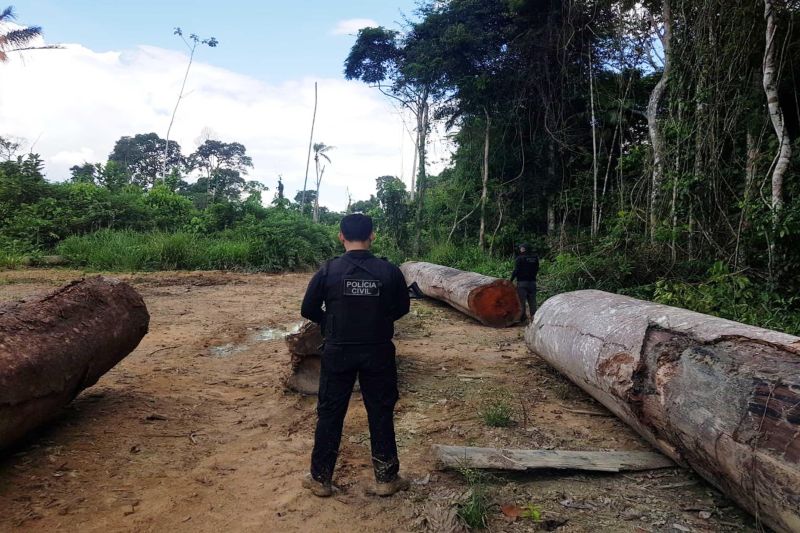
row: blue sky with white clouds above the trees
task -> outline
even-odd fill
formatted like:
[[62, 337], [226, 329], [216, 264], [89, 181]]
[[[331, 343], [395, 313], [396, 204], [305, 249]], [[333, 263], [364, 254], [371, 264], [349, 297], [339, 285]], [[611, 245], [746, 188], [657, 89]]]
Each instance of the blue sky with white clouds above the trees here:
[[[399, 29], [414, 0], [16, 0], [18, 22], [41, 26], [59, 50], [13, 54], [0, 65], [0, 135], [24, 140], [48, 179], [105, 161], [123, 135], [166, 136], [188, 50], [173, 34], [216, 37], [198, 49], [170, 138], [184, 154], [204, 138], [241, 142], [249, 179], [302, 189], [318, 83], [315, 142], [335, 146], [321, 203], [336, 210], [374, 193], [375, 178], [411, 180], [413, 121], [380, 93], [347, 81], [343, 62], [358, 28]], [[429, 171], [447, 162], [434, 135]], [[313, 181], [312, 169], [309, 182]], [[269, 195], [268, 197], [271, 197]]]

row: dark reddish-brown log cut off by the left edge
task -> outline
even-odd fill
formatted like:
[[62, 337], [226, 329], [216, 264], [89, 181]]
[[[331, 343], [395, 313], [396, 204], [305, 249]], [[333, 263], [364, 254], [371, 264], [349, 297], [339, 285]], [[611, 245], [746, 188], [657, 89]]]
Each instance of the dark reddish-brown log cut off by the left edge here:
[[133, 287], [103, 277], [0, 306], [0, 449], [94, 385], [149, 322]]

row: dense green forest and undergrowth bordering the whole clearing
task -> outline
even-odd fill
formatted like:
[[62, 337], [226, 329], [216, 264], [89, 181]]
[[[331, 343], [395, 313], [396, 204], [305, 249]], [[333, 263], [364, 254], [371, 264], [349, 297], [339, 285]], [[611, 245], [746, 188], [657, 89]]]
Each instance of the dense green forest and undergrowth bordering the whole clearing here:
[[[542, 297], [600, 288], [800, 332], [796, 22], [796, 0], [449, 0], [363, 28], [344, 76], [415, 117], [418, 171], [407, 189], [375, 169], [348, 211], [395, 261], [508, 276], [528, 241]], [[429, 175], [435, 126], [456, 151]], [[17, 148], [2, 140], [7, 266], [277, 271], [336, 253], [341, 213], [248, 181], [236, 142], [184, 155], [135, 134], [63, 183]]]

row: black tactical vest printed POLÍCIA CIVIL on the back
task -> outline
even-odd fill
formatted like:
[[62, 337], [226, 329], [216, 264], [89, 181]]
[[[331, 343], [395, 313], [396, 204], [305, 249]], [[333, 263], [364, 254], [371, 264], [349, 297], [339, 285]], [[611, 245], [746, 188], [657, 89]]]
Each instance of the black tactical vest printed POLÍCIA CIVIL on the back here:
[[392, 265], [366, 252], [328, 261], [325, 273], [326, 344], [380, 344], [394, 335]]

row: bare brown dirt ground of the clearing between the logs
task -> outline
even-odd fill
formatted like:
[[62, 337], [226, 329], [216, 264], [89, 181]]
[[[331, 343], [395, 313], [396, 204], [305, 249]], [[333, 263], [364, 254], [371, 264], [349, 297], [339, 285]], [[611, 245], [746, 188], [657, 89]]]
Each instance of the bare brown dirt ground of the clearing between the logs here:
[[[0, 301], [80, 272], [0, 272]], [[309, 279], [230, 273], [118, 276], [151, 314], [138, 349], [27, 442], [0, 454], [0, 531], [448, 531], [468, 486], [438, 472], [433, 443], [646, 450], [631, 430], [526, 349], [522, 328], [493, 330], [435, 302], [398, 327], [402, 471], [411, 490], [378, 499], [366, 415], [353, 395], [333, 498], [308, 496], [315, 399], [284, 390], [280, 332]], [[274, 337], [278, 337], [277, 339]], [[516, 424], [487, 427], [486, 401]], [[493, 400], [492, 400], [493, 399]], [[599, 412], [605, 416], [576, 411]], [[751, 518], [678, 468], [587, 475], [492, 475], [490, 531], [536, 531], [500, 505], [533, 504], [559, 531], [757, 531]], [[710, 515], [710, 517], [709, 517]]]

